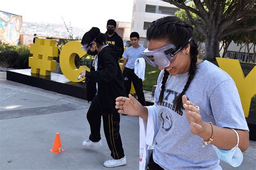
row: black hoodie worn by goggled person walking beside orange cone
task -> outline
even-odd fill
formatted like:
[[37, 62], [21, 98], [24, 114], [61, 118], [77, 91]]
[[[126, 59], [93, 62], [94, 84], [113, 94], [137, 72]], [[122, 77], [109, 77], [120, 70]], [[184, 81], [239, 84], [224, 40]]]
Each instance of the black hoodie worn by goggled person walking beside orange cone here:
[[[117, 112], [116, 98], [125, 96], [124, 79], [118, 64], [121, 50], [113, 45], [104, 47], [98, 53], [98, 70], [86, 71], [89, 81], [98, 83], [98, 96], [101, 111], [105, 114]], [[93, 86], [92, 86], [93, 88]], [[91, 91], [87, 86], [87, 93]]]

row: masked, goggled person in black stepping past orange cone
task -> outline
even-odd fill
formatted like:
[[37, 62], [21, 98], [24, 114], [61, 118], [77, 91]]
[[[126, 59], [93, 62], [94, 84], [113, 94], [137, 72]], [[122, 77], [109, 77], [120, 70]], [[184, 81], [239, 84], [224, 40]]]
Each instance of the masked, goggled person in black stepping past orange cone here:
[[[104, 133], [113, 158], [105, 161], [103, 165], [106, 167], [123, 166], [126, 164], [126, 157], [119, 133], [120, 114], [114, 107], [116, 98], [125, 96], [123, 76], [118, 64], [118, 58], [122, 52], [116, 46], [107, 45], [106, 35], [100, 33], [99, 29], [95, 27], [85, 33], [81, 43], [82, 49], [89, 55], [97, 51], [92, 64], [94, 69], [91, 69], [90, 72], [80, 72], [80, 76], [86, 77], [88, 82], [97, 84], [96, 96], [92, 99], [87, 112], [91, 134], [89, 140], [83, 142], [83, 146], [102, 146], [100, 121], [103, 117]], [[90, 90], [90, 87], [87, 86], [87, 92]]]

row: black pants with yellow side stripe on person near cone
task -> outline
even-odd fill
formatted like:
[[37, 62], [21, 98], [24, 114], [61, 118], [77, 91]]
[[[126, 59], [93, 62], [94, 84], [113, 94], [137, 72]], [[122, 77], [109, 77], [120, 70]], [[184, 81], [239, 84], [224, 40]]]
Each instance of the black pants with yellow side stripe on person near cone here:
[[87, 112], [87, 120], [90, 124], [91, 134], [89, 139], [93, 142], [99, 141], [101, 117], [103, 118], [104, 133], [107, 145], [111, 151], [111, 157], [121, 159], [124, 157], [124, 149], [119, 133], [120, 114], [117, 112], [102, 114], [98, 95], [93, 98]]

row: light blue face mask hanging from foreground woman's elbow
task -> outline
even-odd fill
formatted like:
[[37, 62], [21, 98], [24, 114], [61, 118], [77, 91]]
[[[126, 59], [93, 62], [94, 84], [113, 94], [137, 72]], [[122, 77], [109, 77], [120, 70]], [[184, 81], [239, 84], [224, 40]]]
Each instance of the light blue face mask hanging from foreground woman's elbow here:
[[[233, 128], [232, 128], [232, 130], [233, 130]], [[242, 155], [240, 148], [238, 147], [239, 135], [238, 135], [237, 131], [235, 131], [235, 130], [233, 130], [233, 131], [235, 132], [235, 134], [237, 134], [237, 145], [235, 145], [232, 149], [223, 150], [216, 146], [213, 146], [213, 145], [212, 146], [215, 149], [215, 152], [217, 153], [219, 159], [223, 160], [224, 162], [226, 162], [227, 164], [230, 164], [233, 167], [238, 167], [239, 165], [241, 165], [244, 157]]]

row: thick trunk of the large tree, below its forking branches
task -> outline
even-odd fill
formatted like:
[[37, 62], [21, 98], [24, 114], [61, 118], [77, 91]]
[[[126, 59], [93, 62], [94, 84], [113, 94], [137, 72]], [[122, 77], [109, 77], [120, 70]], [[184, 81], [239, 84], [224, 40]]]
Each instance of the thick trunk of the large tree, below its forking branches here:
[[215, 57], [220, 57], [219, 40], [212, 35], [205, 39], [205, 58], [207, 60], [216, 60]]

